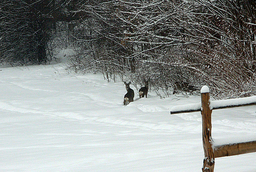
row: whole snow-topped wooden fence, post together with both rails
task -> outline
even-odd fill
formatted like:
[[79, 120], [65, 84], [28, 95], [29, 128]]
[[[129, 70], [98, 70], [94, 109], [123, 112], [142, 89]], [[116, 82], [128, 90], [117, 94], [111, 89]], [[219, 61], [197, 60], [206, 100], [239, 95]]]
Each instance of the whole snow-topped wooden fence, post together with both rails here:
[[214, 146], [212, 139], [211, 115], [213, 109], [250, 105], [256, 105], [256, 96], [240, 99], [210, 101], [209, 88], [208, 86], [203, 86], [201, 89], [201, 103], [181, 105], [171, 109], [171, 114], [201, 111], [202, 139], [205, 155], [202, 168], [203, 172], [214, 172], [215, 158], [256, 152], [256, 141]]

